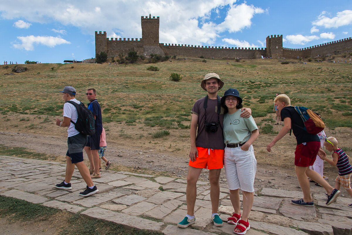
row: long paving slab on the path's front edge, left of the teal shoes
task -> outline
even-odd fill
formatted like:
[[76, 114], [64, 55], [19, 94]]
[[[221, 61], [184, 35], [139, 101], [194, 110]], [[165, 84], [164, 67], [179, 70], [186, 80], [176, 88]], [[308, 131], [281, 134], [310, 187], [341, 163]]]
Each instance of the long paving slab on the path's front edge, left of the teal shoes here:
[[146, 229], [150, 231], [160, 230], [164, 223], [143, 219], [137, 216], [131, 216], [124, 213], [113, 212], [102, 208], [94, 207], [81, 212], [81, 215], [87, 218], [101, 219], [122, 224], [125, 229]]

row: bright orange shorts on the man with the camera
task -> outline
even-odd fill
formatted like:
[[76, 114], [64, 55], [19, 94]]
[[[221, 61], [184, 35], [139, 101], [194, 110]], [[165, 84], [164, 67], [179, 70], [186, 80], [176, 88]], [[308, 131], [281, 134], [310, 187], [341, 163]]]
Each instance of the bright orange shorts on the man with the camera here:
[[194, 168], [221, 169], [224, 167], [224, 149], [208, 149], [197, 147], [198, 156], [188, 165]]

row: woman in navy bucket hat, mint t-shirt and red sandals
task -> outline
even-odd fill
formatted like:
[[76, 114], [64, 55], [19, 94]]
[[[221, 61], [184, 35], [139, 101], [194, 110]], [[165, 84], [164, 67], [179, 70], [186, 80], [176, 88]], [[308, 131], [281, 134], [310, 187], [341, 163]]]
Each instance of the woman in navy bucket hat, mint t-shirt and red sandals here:
[[[252, 116], [241, 118], [242, 98], [236, 89], [228, 89], [221, 98], [225, 108], [224, 165], [230, 199], [234, 209], [227, 223], [235, 224], [235, 234], [245, 234], [250, 225], [248, 216], [254, 199], [254, 177], [257, 170], [257, 160], [254, 156], [252, 143], [259, 135], [258, 127]], [[243, 213], [240, 212], [239, 188], [243, 193]], [[241, 219], [242, 218], [242, 219]]]

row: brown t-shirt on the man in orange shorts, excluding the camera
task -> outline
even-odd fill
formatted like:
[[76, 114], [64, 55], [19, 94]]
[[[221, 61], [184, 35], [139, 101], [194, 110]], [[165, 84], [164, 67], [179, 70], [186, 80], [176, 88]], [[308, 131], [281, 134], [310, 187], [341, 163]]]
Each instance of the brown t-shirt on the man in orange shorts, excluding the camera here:
[[[198, 115], [198, 130], [196, 136], [196, 146], [209, 148], [209, 149], [225, 149], [224, 135], [222, 134], [222, 129], [218, 125], [218, 131], [212, 133], [210, 131], [205, 131], [205, 109], [204, 105], [205, 97], [196, 101], [193, 105], [191, 113]], [[208, 98], [207, 112], [207, 122], [218, 122], [218, 100], [212, 100]], [[221, 108], [219, 115], [220, 124], [223, 127], [224, 122], [224, 108]]]

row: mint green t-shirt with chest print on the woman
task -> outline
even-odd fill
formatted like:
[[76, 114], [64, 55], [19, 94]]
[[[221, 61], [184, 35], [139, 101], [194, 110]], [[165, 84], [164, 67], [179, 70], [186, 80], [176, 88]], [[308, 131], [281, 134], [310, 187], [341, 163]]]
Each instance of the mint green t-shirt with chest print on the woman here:
[[[242, 144], [249, 140], [252, 131], [258, 129], [252, 116], [240, 117], [241, 110], [224, 115], [224, 138], [226, 144]], [[230, 124], [231, 123], [231, 124]]]

